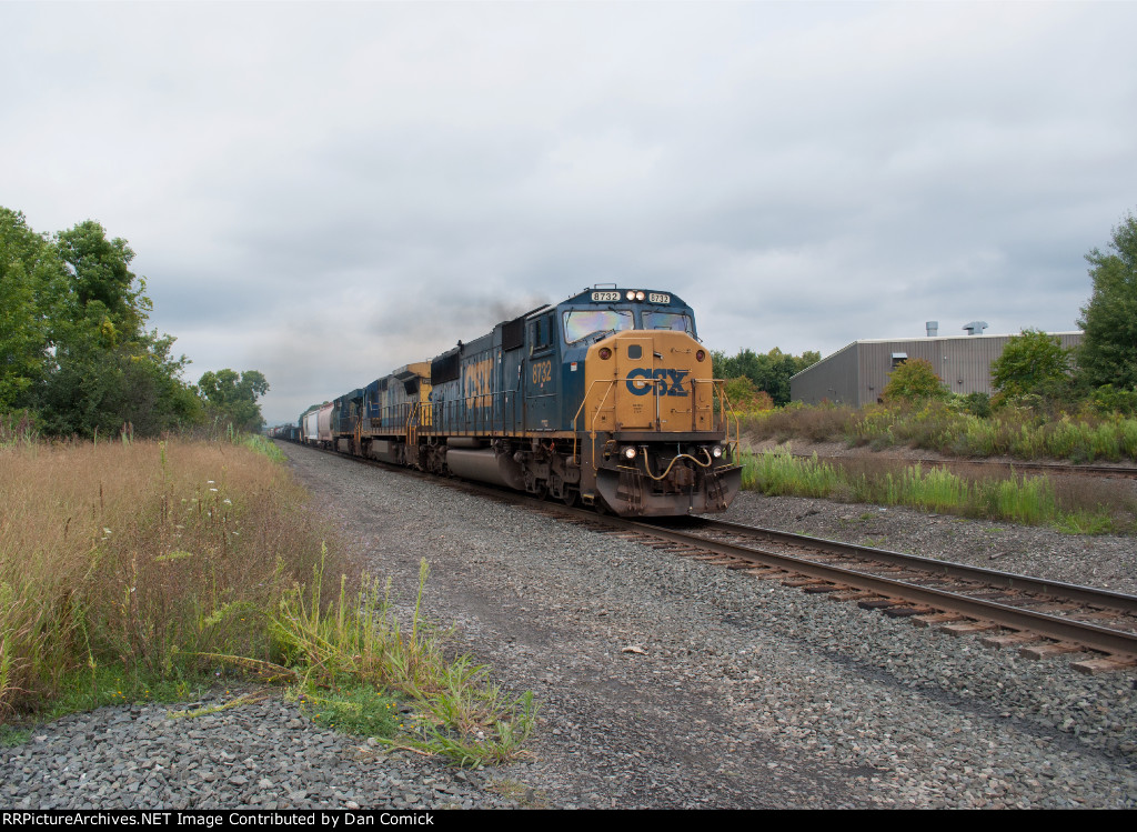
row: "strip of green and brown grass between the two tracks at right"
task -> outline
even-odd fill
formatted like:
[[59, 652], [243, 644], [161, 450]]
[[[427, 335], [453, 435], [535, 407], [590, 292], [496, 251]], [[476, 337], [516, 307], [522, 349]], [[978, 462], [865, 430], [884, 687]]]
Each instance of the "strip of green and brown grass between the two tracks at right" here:
[[[1105, 534], [1132, 525], [1137, 506], [1099, 501], [1094, 488], [1056, 491], [1045, 477], [997, 479], [856, 460], [845, 466], [795, 458], [788, 451], [744, 458], [742, 487], [771, 495], [835, 499], [878, 505], [1051, 526], [1069, 534]], [[1131, 501], [1130, 501], [1131, 502]], [[866, 514], [862, 514], [865, 519]]]

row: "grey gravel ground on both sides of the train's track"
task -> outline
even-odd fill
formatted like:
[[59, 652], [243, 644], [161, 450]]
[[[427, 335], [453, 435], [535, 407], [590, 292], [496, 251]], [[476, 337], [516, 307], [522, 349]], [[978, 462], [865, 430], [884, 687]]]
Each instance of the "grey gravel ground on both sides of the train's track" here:
[[[107, 708], [0, 751], [0, 804], [1137, 806], [1132, 673], [1081, 676], [1069, 657], [1028, 661], [437, 484], [287, 452], [372, 570], [409, 601], [426, 558], [430, 617], [453, 621], [462, 649], [506, 687], [537, 694], [530, 756], [474, 773], [388, 757], [312, 725], [279, 694], [192, 723]], [[728, 517], [1114, 588], [1137, 571], [1128, 538], [749, 494]]]

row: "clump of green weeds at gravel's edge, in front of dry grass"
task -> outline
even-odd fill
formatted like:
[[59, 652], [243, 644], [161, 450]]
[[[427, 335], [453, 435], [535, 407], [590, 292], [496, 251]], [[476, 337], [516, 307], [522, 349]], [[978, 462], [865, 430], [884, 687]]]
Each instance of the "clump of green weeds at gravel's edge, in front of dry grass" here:
[[[271, 618], [275, 652], [294, 668], [297, 698], [327, 724], [443, 753], [459, 765], [511, 759], [536, 725], [533, 697], [507, 697], [484, 666], [466, 656], [446, 658], [449, 634], [422, 618], [429, 574], [423, 560], [409, 628], [395, 615], [389, 582], [381, 586], [365, 575], [351, 594], [341, 580], [338, 601], [326, 609], [293, 588]], [[317, 569], [312, 586], [322, 583]], [[399, 701], [415, 714], [399, 723], [396, 740], [388, 718], [399, 712]]]

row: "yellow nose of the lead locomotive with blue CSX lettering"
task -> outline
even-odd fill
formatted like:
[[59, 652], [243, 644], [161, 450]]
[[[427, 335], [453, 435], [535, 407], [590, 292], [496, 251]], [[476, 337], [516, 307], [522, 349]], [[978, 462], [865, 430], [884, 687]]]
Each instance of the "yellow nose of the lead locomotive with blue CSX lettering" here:
[[584, 362], [584, 423], [596, 431], [714, 430], [711, 357], [686, 332], [628, 330]]

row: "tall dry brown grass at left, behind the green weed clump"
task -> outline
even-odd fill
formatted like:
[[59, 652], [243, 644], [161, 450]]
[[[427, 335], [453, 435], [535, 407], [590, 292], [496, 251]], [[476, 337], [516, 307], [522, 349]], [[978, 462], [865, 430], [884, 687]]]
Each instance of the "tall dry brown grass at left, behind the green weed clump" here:
[[258, 612], [321, 557], [305, 502], [232, 444], [0, 448], [0, 719], [108, 662], [160, 675], [199, 653], [267, 658]]

